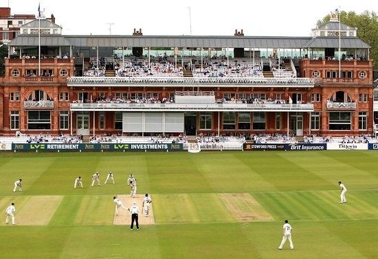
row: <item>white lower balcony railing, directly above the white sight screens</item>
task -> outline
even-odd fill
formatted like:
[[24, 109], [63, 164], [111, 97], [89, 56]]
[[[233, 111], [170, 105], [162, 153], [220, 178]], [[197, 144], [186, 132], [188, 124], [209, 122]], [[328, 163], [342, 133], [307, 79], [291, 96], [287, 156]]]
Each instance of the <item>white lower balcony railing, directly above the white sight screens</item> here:
[[71, 103], [71, 110], [312, 112], [313, 103]]

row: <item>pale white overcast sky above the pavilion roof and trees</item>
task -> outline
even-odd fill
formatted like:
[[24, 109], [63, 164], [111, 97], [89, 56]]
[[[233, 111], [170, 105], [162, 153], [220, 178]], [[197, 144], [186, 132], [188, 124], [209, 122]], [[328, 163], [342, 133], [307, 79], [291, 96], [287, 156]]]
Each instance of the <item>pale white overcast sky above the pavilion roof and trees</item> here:
[[[0, 0], [11, 14], [54, 14], [65, 35], [311, 36], [311, 29], [326, 14], [339, 8], [356, 13], [378, 12], [378, 1], [306, 0]], [[101, 4], [99, 4], [101, 3]], [[109, 23], [113, 23], [109, 25]], [[111, 31], [109, 31], [111, 27]], [[190, 29], [191, 28], [191, 29]]]

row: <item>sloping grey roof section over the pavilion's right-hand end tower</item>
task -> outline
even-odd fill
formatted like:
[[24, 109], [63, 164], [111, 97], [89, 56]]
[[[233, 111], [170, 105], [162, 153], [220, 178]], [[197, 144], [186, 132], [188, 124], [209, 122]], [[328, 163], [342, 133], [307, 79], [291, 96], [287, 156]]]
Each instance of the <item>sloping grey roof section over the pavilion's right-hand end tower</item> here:
[[[347, 49], [368, 49], [370, 48], [370, 45], [368, 45], [366, 42], [360, 40], [357, 37], [348, 37], [348, 38], [341, 38], [340, 45], [342, 48]], [[319, 37], [319, 38], [313, 38], [309, 40], [305, 45], [303, 45], [304, 48], [338, 48], [339, 47], [339, 38], [330, 38], [330, 37]]]

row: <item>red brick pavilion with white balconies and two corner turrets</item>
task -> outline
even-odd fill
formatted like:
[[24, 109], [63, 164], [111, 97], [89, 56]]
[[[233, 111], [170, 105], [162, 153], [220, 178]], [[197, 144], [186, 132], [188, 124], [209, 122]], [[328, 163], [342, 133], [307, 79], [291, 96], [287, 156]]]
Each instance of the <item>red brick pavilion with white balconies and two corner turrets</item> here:
[[313, 37], [63, 36], [35, 20], [8, 45], [0, 134], [371, 134], [356, 30], [333, 17]]

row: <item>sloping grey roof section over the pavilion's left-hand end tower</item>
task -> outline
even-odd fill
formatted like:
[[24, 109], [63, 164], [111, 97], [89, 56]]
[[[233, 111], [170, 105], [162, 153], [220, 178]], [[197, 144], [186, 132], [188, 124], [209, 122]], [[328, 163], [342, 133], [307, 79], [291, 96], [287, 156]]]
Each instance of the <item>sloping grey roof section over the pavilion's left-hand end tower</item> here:
[[[26, 47], [26, 46], [38, 46], [38, 35], [31, 36], [30, 34], [19, 35], [12, 40], [11, 45], [14, 47]], [[64, 36], [54, 35], [47, 36], [41, 35], [41, 45], [42, 46], [72, 46], [72, 43], [67, 40]]]

